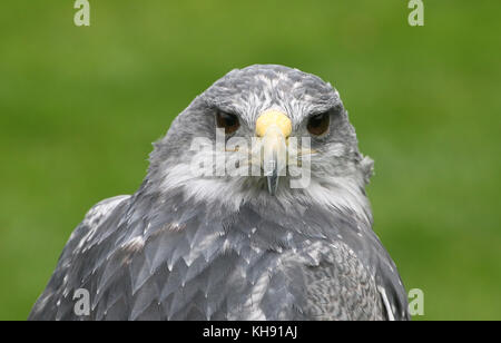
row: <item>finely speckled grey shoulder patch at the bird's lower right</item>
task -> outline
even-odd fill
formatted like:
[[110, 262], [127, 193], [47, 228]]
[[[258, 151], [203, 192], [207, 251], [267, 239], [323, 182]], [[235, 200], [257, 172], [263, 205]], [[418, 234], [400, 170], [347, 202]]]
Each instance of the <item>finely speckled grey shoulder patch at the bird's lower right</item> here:
[[382, 320], [374, 274], [345, 243], [318, 241], [284, 256], [304, 285], [302, 312], [310, 320]]

